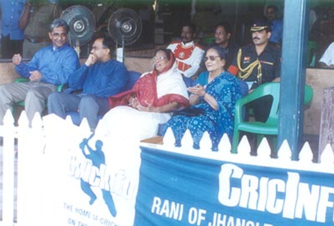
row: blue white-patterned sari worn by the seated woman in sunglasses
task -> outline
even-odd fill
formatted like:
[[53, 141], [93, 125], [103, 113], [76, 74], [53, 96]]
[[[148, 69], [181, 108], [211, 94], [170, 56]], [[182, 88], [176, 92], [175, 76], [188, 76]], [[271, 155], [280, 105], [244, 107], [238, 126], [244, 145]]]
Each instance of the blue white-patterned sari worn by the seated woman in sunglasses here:
[[232, 138], [234, 106], [235, 102], [241, 97], [238, 81], [232, 74], [224, 71], [207, 84], [205, 92], [217, 101], [218, 109], [213, 109], [201, 98], [200, 102], [191, 106], [191, 108], [204, 109], [203, 115], [195, 117], [173, 116], [165, 125], [163, 134], [166, 133], [168, 127], [171, 127], [175, 136], [175, 146], [181, 146], [181, 139], [187, 129], [190, 130], [195, 149], [199, 149], [199, 142], [205, 131], [210, 135], [213, 151], [217, 151], [219, 141], [224, 133], [230, 139]]

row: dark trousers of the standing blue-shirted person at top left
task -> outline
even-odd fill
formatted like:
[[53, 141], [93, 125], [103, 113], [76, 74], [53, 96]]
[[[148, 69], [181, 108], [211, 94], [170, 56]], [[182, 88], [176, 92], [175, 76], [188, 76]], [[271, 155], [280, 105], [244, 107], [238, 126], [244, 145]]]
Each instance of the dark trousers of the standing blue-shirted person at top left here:
[[10, 40], [9, 35], [1, 35], [1, 57], [11, 59], [14, 54], [21, 54], [23, 52], [23, 39], [22, 40]]

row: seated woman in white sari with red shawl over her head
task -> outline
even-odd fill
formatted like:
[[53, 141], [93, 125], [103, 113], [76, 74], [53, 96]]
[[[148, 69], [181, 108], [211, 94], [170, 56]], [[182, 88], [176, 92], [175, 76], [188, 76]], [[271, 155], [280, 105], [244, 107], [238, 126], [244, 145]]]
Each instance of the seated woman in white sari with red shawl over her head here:
[[157, 134], [159, 124], [171, 118], [174, 109], [189, 104], [173, 53], [159, 49], [153, 60], [153, 71], [144, 73], [132, 90], [109, 98], [112, 109], [100, 121], [96, 133], [117, 141], [150, 138]]

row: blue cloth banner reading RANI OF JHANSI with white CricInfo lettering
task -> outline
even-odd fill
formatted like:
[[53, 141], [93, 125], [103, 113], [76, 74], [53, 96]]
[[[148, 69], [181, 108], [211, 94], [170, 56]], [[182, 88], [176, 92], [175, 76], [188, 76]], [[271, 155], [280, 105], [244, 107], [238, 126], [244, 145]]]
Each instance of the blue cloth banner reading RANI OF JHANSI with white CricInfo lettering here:
[[141, 149], [135, 226], [334, 225], [332, 174]]

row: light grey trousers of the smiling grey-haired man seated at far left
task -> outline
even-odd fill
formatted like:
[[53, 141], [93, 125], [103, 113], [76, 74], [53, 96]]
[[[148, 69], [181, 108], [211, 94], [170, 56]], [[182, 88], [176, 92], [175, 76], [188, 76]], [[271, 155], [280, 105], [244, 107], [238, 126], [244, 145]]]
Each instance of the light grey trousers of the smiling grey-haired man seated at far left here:
[[35, 112], [42, 113], [48, 95], [56, 88], [56, 85], [44, 82], [15, 82], [0, 85], [0, 123], [3, 123], [6, 110], [13, 110], [13, 103], [22, 100], [24, 100], [24, 109], [31, 123]]

